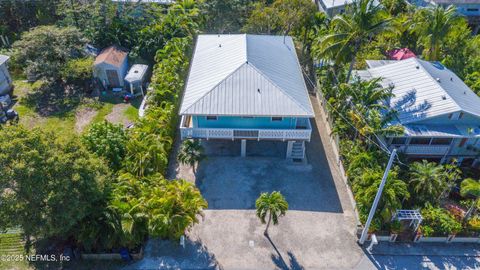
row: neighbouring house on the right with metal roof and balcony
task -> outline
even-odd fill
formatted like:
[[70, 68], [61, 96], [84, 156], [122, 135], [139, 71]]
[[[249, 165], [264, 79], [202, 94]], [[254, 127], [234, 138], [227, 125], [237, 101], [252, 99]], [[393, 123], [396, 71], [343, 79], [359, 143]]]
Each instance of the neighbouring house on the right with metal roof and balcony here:
[[418, 58], [370, 60], [367, 65], [357, 74], [382, 78], [382, 85], [392, 89], [394, 97], [385, 102], [397, 116], [390, 124], [405, 128], [404, 134], [385, 138], [390, 149], [413, 159], [479, 164], [480, 97], [455, 73]]

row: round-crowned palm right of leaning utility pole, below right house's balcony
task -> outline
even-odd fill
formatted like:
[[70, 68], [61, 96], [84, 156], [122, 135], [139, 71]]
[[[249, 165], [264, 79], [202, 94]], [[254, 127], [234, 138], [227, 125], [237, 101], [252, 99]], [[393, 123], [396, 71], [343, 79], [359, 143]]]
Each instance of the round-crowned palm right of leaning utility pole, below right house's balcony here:
[[423, 202], [433, 202], [447, 185], [444, 168], [434, 162], [414, 162], [410, 168], [410, 185]]

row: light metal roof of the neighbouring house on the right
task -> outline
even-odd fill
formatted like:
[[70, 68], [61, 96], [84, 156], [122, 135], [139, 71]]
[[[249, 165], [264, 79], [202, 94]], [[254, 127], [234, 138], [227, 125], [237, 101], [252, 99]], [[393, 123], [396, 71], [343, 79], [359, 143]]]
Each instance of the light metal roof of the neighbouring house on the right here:
[[384, 87], [393, 86], [389, 104], [402, 124], [458, 111], [480, 117], [480, 97], [438, 62], [409, 58], [370, 68], [368, 73], [359, 75], [383, 78]]

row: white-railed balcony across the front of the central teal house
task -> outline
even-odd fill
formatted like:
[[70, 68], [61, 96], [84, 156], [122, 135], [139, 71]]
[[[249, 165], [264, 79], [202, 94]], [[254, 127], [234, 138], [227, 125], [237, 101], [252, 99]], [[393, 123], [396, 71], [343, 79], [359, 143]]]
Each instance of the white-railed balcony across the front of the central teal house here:
[[250, 139], [310, 141], [312, 126], [309, 120], [299, 121], [295, 129], [236, 129], [236, 128], [194, 128], [191, 117], [182, 116], [180, 134], [183, 139]]

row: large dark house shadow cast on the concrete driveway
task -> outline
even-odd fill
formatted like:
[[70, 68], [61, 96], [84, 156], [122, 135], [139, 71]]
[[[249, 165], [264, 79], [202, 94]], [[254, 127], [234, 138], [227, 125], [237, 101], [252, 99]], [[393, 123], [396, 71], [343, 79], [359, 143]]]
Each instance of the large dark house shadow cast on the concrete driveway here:
[[238, 141], [204, 141], [208, 157], [199, 164], [196, 185], [208, 208], [254, 209], [260, 193], [280, 191], [289, 210], [343, 213], [314, 121], [312, 125], [308, 164], [287, 161], [286, 142], [248, 141], [247, 153], [256, 155], [241, 158], [233, 156], [240, 152]]

